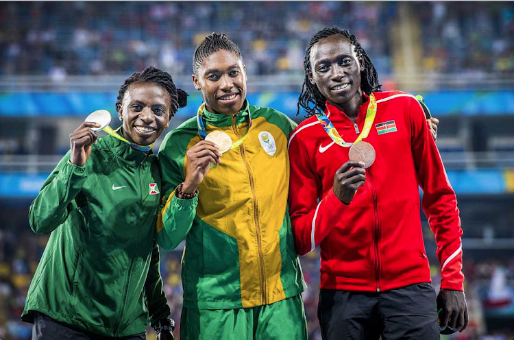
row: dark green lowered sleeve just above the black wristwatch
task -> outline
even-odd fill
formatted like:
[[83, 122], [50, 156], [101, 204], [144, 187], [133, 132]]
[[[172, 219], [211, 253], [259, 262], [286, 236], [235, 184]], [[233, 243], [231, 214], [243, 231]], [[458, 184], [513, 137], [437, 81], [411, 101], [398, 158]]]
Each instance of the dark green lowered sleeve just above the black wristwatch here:
[[162, 290], [162, 276], [159, 269], [159, 248], [154, 241], [154, 249], [151, 252], [150, 267], [145, 281], [145, 299], [148, 307], [150, 324], [156, 324], [171, 314], [167, 304], [166, 294]]

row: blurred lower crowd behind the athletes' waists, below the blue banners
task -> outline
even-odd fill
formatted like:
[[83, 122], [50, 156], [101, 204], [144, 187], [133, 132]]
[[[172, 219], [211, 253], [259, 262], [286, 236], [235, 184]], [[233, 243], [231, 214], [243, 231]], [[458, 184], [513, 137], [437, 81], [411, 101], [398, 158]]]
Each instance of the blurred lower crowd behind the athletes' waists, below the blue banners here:
[[[28, 229], [28, 226], [27, 226]], [[27, 229], [0, 229], [0, 339], [28, 340], [32, 324], [20, 320], [25, 304], [25, 296], [32, 280], [38, 260], [47, 243], [48, 236], [38, 235]], [[23, 230], [23, 231], [21, 231]], [[429, 236], [430, 231], [426, 232]], [[429, 238], [427, 238], [429, 239]], [[433, 243], [432, 240], [428, 244]], [[427, 247], [428, 254], [434, 254], [435, 247]], [[507, 329], [506, 316], [514, 317], [513, 282], [514, 259], [506, 260], [476, 259], [467, 252], [465, 257], [465, 291], [469, 306], [469, 325], [467, 330], [451, 338], [452, 340], [506, 340], [514, 333]], [[182, 252], [161, 250], [161, 274], [164, 292], [171, 307], [172, 317], [177, 321], [180, 332], [180, 311], [182, 308], [182, 284], [180, 280], [180, 258]], [[319, 252], [302, 256], [302, 269], [308, 284], [304, 291], [305, 312], [308, 320], [309, 339], [321, 340], [317, 321], [317, 302], [319, 295]], [[437, 260], [432, 263], [432, 284], [438, 289], [440, 283]], [[500, 321], [498, 321], [500, 320]], [[502, 326], [503, 324], [503, 326]], [[154, 340], [154, 331], [147, 332], [147, 339]]]

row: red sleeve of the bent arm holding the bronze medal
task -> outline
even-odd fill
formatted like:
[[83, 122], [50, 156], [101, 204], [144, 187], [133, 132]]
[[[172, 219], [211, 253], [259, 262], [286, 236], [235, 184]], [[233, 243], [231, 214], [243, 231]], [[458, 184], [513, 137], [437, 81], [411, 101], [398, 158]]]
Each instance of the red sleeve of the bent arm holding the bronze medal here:
[[347, 207], [339, 201], [332, 189], [318, 201], [318, 197], [323, 195], [321, 180], [315, 174], [309, 159], [304, 143], [293, 136], [289, 145], [289, 213], [296, 252], [299, 255], [314, 250], [334, 227], [334, 221], [339, 221], [341, 213]]

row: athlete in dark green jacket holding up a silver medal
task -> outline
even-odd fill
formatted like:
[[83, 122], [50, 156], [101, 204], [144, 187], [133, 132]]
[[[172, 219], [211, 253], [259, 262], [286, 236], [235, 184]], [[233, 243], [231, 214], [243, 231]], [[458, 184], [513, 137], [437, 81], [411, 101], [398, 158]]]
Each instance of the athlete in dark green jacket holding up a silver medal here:
[[[32, 339], [145, 339], [148, 315], [173, 339], [156, 245], [160, 169], [151, 152], [187, 94], [149, 67], [119, 90], [119, 134], [84, 122], [30, 206], [34, 232], [51, 233], [22, 319]], [[180, 215], [180, 213], [178, 213]]]

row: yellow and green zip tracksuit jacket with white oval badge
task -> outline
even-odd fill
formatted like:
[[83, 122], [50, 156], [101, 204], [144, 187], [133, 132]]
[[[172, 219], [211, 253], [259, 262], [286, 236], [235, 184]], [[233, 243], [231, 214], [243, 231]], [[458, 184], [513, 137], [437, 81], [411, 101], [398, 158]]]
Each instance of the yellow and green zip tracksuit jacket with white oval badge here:
[[[295, 123], [282, 112], [249, 106], [235, 115], [204, 109], [207, 134], [245, 141], [211, 167], [193, 199], [178, 199], [186, 178], [186, 151], [201, 139], [196, 118], [167, 134], [158, 154], [164, 204], [157, 240], [173, 249], [186, 237], [182, 258], [184, 306], [226, 309], [272, 304], [295, 296], [305, 282], [295, 252], [287, 207], [287, 141]], [[196, 208], [196, 213], [194, 209]], [[184, 220], [187, 210], [193, 210]], [[182, 216], [182, 220], [175, 216]]]

